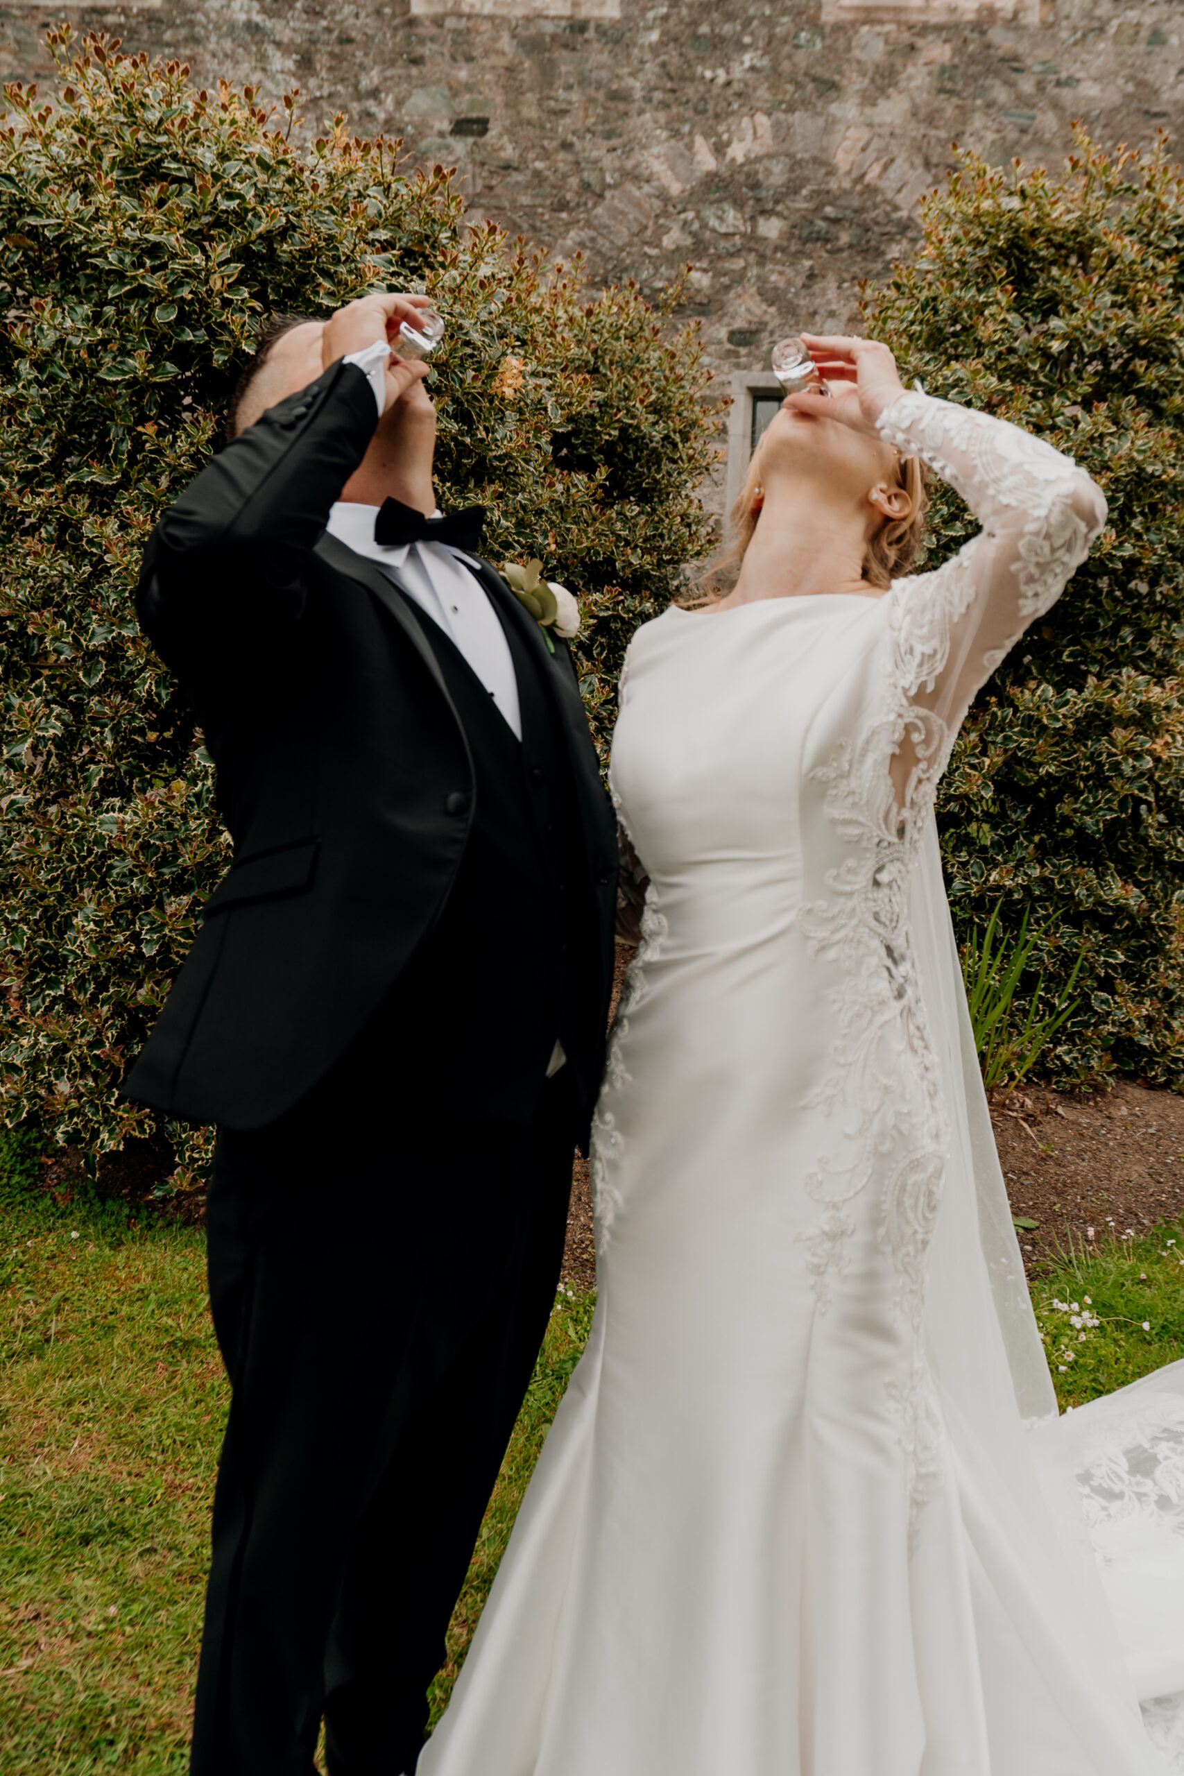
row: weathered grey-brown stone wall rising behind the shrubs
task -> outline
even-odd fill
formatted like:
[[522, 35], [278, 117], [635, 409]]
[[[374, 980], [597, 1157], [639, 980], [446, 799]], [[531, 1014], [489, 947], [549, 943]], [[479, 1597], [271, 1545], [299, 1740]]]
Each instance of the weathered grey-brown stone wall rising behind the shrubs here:
[[781, 334], [854, 323], [951, 140], [1046, 160], [1077, 117], [1109, 146], [1184, 119], [1180, 0], [55, 0], [0, 9], [7, 80], [50, 73], [64, 11], [401, 135], [593, 284], [691, 263], [719, 392]]

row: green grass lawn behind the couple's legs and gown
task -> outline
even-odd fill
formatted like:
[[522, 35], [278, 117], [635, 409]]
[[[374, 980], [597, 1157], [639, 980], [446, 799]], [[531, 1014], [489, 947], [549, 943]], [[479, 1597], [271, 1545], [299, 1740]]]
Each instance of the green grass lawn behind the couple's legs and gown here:
[[[227, 1401], [202, 1238], [128, 1225], [122, 1206], [32, 1197], [36, 1156], [0, 1146], [0, 1772], [179, 1776]], [[1168, 1229], [1108, 1245], [1037, 1284], [1063, 1405], [1184, 1355], [1182, 1243]], [[1081, 1307], [1099, 1325], [1070, 1325]], [[456, 1607], [437, 1714], [591, 1309], [591, 1295], [557, 1298]]]

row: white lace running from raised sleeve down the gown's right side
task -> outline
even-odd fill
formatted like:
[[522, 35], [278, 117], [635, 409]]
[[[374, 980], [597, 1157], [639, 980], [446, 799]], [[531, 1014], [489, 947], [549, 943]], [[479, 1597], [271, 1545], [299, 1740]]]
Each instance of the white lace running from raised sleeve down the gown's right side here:
[[[841, 1030], [833, 1069], [809, 1098], [840, 1124], [833, 1153], [806, 1179], [824, 1209], [806, 1236], [809, 1263], [825, 1311], [831, 1277], [856, 1231], [849, 1206], [873, 1177], [886, 1177], [880, 1238], [896, 1273], [898, 1311], [914, 1332], [911, 1371], [888, 1385], [916, 1515], [939, 1460], [921, 1320], [948, 1126], [911, 947], [909, 884], [971, 696], [1026, 623], [1056, 600], [1101, 527], [1104, 503], [1097, 496], [1097, 524], [1086, 524], [1079, 508], [1092, 496], [1069, 458], [969, 408], [905, 394], [879, 430], [921, 455], [985, 524], [951, 561], [886, 593], [872, 677], [879, 707], [868, 710], [863, 733], [813, 773], [829, 785], [825, 812], [849, 856], [827, 877], [829, 899], [801, 915], [811, 954], [840, 968], [833, 1003]], [[896, 757], [907, 767], [904, 785], [893, 783]]]

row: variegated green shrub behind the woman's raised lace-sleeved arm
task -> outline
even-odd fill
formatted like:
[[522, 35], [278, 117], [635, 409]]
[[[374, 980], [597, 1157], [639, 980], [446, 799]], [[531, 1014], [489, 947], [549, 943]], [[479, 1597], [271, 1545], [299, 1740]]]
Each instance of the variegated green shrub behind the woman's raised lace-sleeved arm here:
[[[971, 710], [939, 801], [959, 934], [1031, 908], [1046, 1012], [1083, 957], [1042, 1062], [1060, 1078], [1184, 1078], [1182, 242], [1163, 144], [1108, 156], [1079, 137], [1060, 172], [964, 155], [916, 263], [866, 298], [907, 378], [1038, 432], [1109, 501]], [[937, 485], [928, 561], [973, 529]]]

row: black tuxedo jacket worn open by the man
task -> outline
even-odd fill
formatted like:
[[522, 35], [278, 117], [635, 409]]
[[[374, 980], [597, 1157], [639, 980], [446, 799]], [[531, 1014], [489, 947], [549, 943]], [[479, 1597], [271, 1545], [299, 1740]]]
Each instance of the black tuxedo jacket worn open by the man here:
[[[215, 456], [144, 552], [140, 623], [195, 703], [234, 840], [124, 1083], [169, 1115], [254, 1130], [293, 1108], [387, 998], [465, 851], [474, 758], [435, 654], [385, 572], [325, 535], [373, 432], [366, 377], [330, 366]], [[598, 920], [600, 1044], [616, 822], [575, 668], [488, 563], [470, 565], [559, 718]]]

